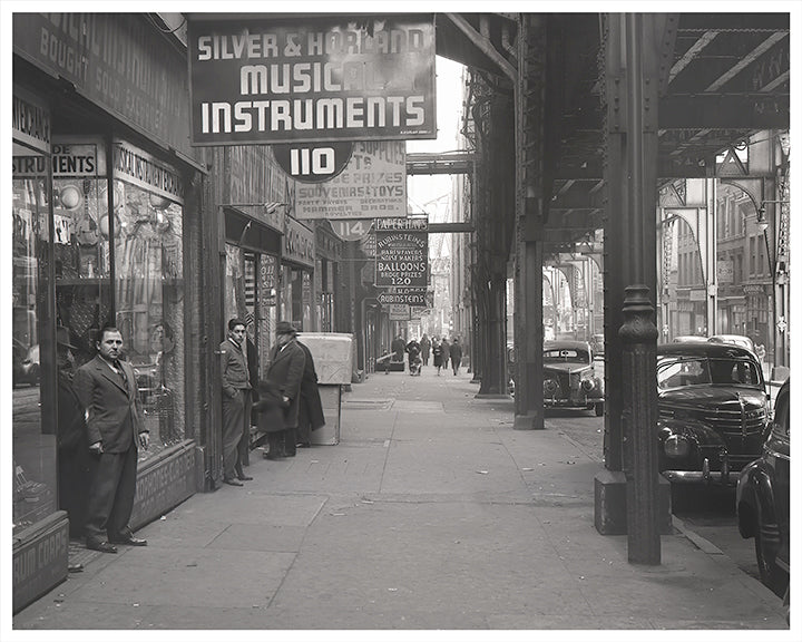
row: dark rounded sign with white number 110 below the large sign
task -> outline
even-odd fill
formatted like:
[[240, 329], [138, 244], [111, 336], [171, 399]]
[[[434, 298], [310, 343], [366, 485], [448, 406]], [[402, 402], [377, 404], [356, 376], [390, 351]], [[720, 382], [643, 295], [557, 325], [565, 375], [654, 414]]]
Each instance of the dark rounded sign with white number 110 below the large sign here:
[[353, 153], [351, 140], [342, 143], [285, 143], [271, 145], [284, 173], [301, 183], [323, 183], [340, 174]]

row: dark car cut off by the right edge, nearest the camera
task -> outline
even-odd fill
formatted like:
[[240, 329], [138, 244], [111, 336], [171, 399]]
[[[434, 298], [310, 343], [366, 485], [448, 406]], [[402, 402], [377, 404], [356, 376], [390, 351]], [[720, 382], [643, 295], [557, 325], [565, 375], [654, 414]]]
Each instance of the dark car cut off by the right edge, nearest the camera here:
[[735, 506], [741, 536], [754, 537], [763, 584], [782, 596], [789, 587], [791, 526], [791, 383], [780, 388], [774, 420], [760, 459], [739, 476]]

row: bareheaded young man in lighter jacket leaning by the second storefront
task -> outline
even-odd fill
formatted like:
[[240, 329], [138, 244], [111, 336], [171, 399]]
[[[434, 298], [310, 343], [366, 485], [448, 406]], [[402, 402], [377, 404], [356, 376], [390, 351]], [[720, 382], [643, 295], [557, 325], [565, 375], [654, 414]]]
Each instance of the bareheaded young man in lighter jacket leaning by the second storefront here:
[[251, 407], [251, 381], [245, 343], [245, 322], [228, 320], [228, 337], [219, 346], [221, 379], [223, 383], [223, 483], [242, 486], [253, 479], [242, 471], [239, 442], [250, 419], [245, 408]]

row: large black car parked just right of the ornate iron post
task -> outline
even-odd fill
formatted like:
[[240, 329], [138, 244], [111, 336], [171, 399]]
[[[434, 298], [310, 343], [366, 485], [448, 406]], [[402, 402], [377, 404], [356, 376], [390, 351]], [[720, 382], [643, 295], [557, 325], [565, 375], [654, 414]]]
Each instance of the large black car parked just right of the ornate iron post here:
[[727, 343], [657, 347], [659, 470], [672, 483], [734, 486], [769, 422], [755, 356]]

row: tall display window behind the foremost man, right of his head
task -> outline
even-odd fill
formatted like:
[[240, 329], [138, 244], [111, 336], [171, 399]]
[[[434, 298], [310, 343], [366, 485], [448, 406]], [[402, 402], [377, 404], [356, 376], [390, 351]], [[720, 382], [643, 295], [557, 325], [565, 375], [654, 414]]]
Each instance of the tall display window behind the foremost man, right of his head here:
[[114, 189], [116, 322], [150, 430], [147, 458], [186, 437], [183, 208], [125, 181]]

